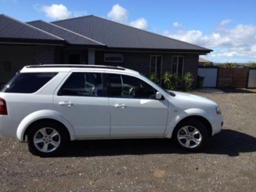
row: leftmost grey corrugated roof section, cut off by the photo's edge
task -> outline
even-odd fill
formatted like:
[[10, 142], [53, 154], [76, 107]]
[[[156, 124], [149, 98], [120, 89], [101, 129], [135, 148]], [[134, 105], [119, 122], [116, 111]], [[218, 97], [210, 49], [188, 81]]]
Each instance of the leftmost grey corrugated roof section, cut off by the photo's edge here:
[[0, 15], [0, 40], [31, 40], [31, 41], [61, 41], [64, 39], [45, 32], [41, 29], [37, 29], [26, 23], [20, 22], [8, 17], [6, 15]]

